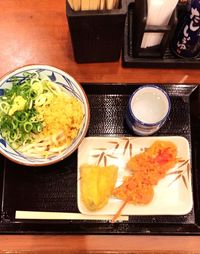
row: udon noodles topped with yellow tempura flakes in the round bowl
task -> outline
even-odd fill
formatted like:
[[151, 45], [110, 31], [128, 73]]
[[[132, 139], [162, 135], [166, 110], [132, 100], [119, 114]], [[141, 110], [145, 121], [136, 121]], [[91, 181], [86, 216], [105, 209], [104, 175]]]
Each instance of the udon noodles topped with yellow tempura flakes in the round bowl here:
[[[16, 105], [13, 107], [12, 102], [6, 109], [7, 112], [5, 110], [5, 112], [1, 112], [1, 125], [3, 125], [2, 119], [5, 120], [5, 115], [11, 119], [16, 117], [19, 112], [31, 114], [30, 110], [34, 110], [34, 117], [31, 116], [26, 120], [26, 127], [23, 126], [25, 134], [21, 129], [22, 133], [16, 130], [16, 133], [19, 133], [19, 139], [11, 139], [13, 134], [9, 133], [10, 130], [4, 131], [4, 138], [15, 150], [29, 157], [45, 158], [62, 153], [73, 142], [81, 128], [84, 117], [82, 103], [67, 93], [62, 86], [49, 79], [34, 77], [27, 84], [30, 85], [32, 99], [28, 101], [26, 97], [23, 97], [23, 93], [16, 96], [23, 97], [18, 98], [20, 106], [17, 104], [17, 107]], [[18, 85], [18, 87], [23, 85]], [[23, 99], [26, 102], [21, 105]], [[6, 100], [4, 102], [7, 103]], [[0, 103], [2, 104], [2, 100]], [[27, 104], [29, 105], [28, 109]], [[40, 123], [36, 125], [37, 128], [34, 126], [36, 123]], [[26, 131], [28, 128], [32, 128], [31, 131]], [[34, 128], [37, 130], [34, 131]], [[25, 138], [22, 139], [22, 135], [25, 135]]]

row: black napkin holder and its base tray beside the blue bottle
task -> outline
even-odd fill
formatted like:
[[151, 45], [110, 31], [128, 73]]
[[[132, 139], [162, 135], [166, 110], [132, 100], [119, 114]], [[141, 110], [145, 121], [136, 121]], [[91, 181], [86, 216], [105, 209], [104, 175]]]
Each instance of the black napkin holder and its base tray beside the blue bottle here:
[[[129, 0], [124, 29], [122, 66], [127, 68], [200, 68], [200, 58], [179, 58], [170, 49], [177, 21], [186, 11], [185, 4], [177, 5], [168, 26], [149, 27], [146, 26], [147, 5], [145, 3], [146, 0]], [[145, 50], [140, 49], [145, 32], [163, 32], [164, 37], [161, 44]]]

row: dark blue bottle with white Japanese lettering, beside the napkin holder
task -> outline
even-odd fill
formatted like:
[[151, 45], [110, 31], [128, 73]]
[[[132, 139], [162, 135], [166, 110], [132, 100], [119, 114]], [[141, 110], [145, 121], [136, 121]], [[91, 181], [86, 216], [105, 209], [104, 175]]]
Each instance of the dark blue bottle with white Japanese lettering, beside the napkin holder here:
[[172, 52], [182, 58], [200, 56], [200, 0], [191, 0], [172, 40]]

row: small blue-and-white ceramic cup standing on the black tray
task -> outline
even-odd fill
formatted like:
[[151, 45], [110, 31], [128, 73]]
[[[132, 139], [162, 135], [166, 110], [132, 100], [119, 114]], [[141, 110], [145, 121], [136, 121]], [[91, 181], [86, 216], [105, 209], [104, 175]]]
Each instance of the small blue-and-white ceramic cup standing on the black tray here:
[[170, 111], [168, 94], [158, 86], [145, 85], [131, 95], [126, 122], [136, 134], [151, 135], [165, 123]]

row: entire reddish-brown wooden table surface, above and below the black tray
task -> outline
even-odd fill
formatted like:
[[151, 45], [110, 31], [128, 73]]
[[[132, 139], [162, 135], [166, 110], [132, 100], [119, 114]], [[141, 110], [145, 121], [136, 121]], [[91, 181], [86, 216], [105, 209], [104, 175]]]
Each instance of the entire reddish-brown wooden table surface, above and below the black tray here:
[[[79, 82], [198, 83], [199, 70], [125, 69], [121, 61], [77, 64], [73, 58], [65, 0], [0, 1], [0, 76], [28, 64], [61, 68]], [[197, 253], [198, 236], [2, 235], [0, 252]], [[199, 253], [199, 252], [198, 252]]]

